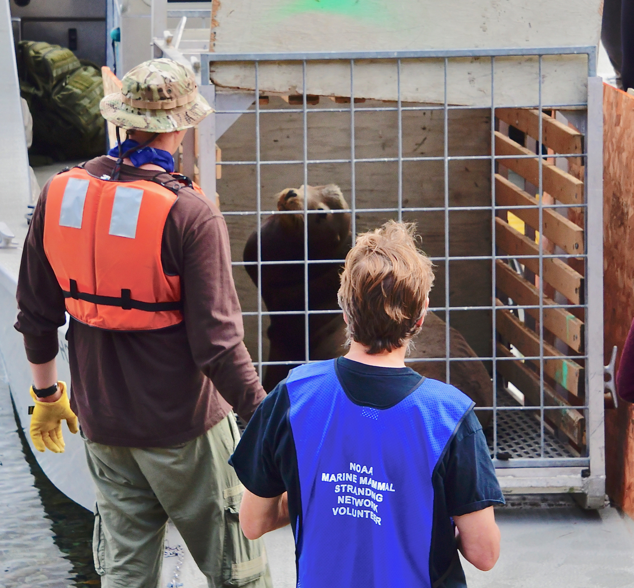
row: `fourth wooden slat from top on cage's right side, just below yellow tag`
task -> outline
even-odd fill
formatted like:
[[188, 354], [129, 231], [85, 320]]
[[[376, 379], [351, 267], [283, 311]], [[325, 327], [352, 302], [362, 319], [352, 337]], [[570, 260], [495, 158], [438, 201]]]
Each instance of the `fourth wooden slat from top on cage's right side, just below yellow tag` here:
[[[517, 256], [531, 272], [540, 273], [540, 260], [537, 258], [524, 258], [522, 255], [537, 255], [540, 249], [536, 242], [531, 241], [525, 235], [515, 230], [501, 218], [495, 219], [495, 242], [498, 247], [506, 251], [508, 255]], [[555, 290], [561, 292], [573, 304], [583, 304], [583, 276], [575, 272], [571, 266], [566, 265], [557, 258], [545, 258], [543, 260], [543, 278]]]

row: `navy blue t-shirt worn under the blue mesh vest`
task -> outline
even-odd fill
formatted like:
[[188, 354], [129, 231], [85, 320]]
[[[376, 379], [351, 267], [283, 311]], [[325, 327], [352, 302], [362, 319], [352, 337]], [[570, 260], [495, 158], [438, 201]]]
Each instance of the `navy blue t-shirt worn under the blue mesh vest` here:
[[[379, 410], [398, 404], [423, 380], [411, 368], [382, 368], [342, 357], [335, 370], [351, 401]], [[297, 541], [302, 525], [301, 491], [289, 408], [286, 380], [282, 380], [257, 408], [230, 463], [253, 494], [271, 498], [288, 492], [288, 513]], [[465, 588], [451, 517], [504, 503], [482, 427], [472, 409], [445, 447], [432, 484], [430, 579], [434, 588]]]

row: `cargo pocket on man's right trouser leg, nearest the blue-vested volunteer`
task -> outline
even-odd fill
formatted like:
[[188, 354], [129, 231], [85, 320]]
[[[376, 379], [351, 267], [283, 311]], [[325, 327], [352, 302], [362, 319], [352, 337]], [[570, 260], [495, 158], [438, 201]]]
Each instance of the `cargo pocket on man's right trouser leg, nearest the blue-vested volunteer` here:
[[266, 551], [262, 539], [250, 541], [240, 529], [238, 513], [244, 486], [239, 484], [223, 491], [224, 553], [223, 582], [226, 586], [243, 586], [267, 573]]

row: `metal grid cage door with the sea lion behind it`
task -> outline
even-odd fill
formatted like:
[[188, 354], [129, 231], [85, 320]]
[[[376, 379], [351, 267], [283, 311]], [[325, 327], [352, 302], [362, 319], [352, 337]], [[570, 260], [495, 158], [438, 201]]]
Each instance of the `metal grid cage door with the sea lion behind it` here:
[[[548, 101], [544, 72], [555, 56], [585, 56], [587, 99]], [[510, 91], [496, 80], [510, 57], [521, 61], [520, 72], [526, 68], [526, 91], [505, 103]], [[301, 210], [275, 210], [273, 196], [300, 184], [339, 185], [347, 208], [328, 215], [349, 215], [352, 242], [389, 218], [418, 222], [436, 265], [430, 311], [444, 321], [444, 349], [422, 357], [414, 351], [406, 361], [443, 367], [447, 382], [456, 366], [486, 369], [491, 401], [476, 410], [489, 415], [481, 420], [490, 422], [485, 432], [505, 490], [566, 490], [602, 504], [602, 84], [595, 61], [595, 47], [202, 54], [203, 84], [238, 72], [239, 91], [253, 97], [248, 108], [217, 108], [217, 116], [240, 115], [218, 140], [217, 185], [261, 377], [270, 366], [314, 360], [313, 317], [340, 313], [311, 306], [313, 268], [343, 263], [309, 254], [309, 217], [324, 210], [311, 209], [307, 197]], [[411, 72], [427, 62], [441, 72], [433, 89], [439, 98], [413, 101], [412, 88], [428, 82]], [[479, 72], [475, 82], [469, 64]], [[368, 95], [372, 67], [391, 90]], [[285, 68], [297, 81], [286, 95], [271, 90]], [[324, 72], [332, 83], [323, 82]], [[482, 97], [460, 103], [454, 90], [461, 84], [486, 85], [488, 104]], [[276, 215], [300, 217], [303, 257], [266, 258], [262, 227]], [[250, 232], [255, 257], [244, 261]], [[303, 271], [302, 308], [263, 303], [262, 272], [280, 265]], [[249, 267], [257, 287], [245, 278]], [[269, 360], [269, 339], [280, 335], [269, 327], [275, 316], [301, 318], [301, 357]], [[469, 353], [452, 353], [453, 329]]]

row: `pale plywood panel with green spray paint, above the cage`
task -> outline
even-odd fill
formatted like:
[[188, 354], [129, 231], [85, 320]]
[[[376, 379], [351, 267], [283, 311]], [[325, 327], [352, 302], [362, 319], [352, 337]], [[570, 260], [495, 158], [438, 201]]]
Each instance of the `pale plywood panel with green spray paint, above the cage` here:
[[212, 8], [215, 50], [251, 53], [596, 45], [602, 3], [232, 0]]

